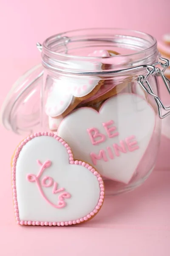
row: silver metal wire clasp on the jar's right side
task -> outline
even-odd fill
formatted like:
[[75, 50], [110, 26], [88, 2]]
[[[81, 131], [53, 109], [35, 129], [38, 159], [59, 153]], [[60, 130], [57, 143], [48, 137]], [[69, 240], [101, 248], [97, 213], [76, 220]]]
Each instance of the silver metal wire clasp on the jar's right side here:
[[[161, 79], [164, 81], [164, 84], [165, 84], [168, 92], [170, 93], [170, 80], [167, 79], [167, 77], [164, 75], [164, 71], [167, 69], [167, 67], [170, 66], [170, 61], [167, 60], [166, 58], [162, 58], [161, 56], [159, 56], [159, 60], [160, 61], [152, 64], [152, 66], [147, 67], [146, 68], [147, 75], [139, 76], [137, 81], [138, 81], [138, 84], [140, 84], [142, 86], [142, 88], [144, 89], [145, 92], [147, 92], [148, 94], [153, 96], [153, 98], [155, 99], [156, 104], [158, 106], [159, 117], [161, 119], [163, 119], [166, 116], [170, 115], [170, 107], [165, 107], [165, 105], [163, 104], [163, 102], [161, 101], [159, 96], [153, 92], [153, 89], [148, 81], [149, 76], [160, 76]], [[162, 63], [162, 61], [163, 61], [163, 63]], [[157, 65], [160, 65], [161, 69], [159, 67], [156, 67]], [[163, 109], [164, 111], [167, 111], [167, 113], [162, 114], [161, 109]]]

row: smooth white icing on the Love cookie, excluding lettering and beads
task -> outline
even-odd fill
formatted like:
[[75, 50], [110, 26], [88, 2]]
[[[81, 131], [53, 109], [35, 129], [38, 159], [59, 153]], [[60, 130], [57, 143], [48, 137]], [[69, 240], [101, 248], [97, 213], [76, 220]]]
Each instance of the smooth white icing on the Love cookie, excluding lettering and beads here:
[[[63, 187], [71, 195], [65, 198], [65, 207], [52, 207], [42, 197], [36, 182], [28, 181], [28, 174], [37, 175], [40, 171], [37, 160], [51, 161], [40, 177], [40, 184], [48, 176], [57, 183], [57, 189]], [[57, 204], [58, 193], [52, 193], [53, 187], [41, 188], [45, 197]], [[96, 176], [82, 165], [71, 165], [65, 146], [50, 136], [35, 137], [21, 149], [16, 164], [16, 190], [20, 221], [77, 220], [93, 211], [100, 198]]]

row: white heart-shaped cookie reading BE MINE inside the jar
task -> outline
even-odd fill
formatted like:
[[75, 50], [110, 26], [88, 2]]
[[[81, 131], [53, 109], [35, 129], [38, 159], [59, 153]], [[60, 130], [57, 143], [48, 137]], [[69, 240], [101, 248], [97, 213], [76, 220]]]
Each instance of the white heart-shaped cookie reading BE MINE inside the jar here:
[[129, 183], [153, 135], [156, 116], [148, 102], [122, 93], [106, 100], [99, 112], [82, 107], [66, 116], [57, 134], [74, 156], [95, 166], [101, 175]]

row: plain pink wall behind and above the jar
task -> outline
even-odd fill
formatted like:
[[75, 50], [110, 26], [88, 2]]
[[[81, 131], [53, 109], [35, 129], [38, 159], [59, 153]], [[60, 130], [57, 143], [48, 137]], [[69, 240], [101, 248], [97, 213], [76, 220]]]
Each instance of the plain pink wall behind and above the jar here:
[[[169, 0], [0, 0], [1, 57], [39, 57], [35, 44], [48, 36], [87, 27], [169, 32]], [[3, 47], [3, 48], [2, 48]]]

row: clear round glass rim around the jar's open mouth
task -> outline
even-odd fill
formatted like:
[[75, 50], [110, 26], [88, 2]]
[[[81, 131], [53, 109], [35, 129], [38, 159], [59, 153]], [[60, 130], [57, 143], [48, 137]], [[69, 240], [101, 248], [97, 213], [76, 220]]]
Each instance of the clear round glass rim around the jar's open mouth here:
[[[91, 57], [88, 55], [70, 54], [70, 52], [81, 53], [91, 47], [111, 47], [110, 50], [131, 50], [133, 53], [112, 55], [109, 57]], [[96, 50], [96, 48], [95, 48]], [[68, 54], [69, 51], [69, 54]], [[135, 52], [134, 52], [135, 51]], [[64, 52], [64, 53], [63, 53]], [[90, 53], [90, 52], [89, 52]], [[142, 64], [153, 64], [158, 57], [156, 39], [144, 32], [122, 28], [90, 28], [77, 29], [52, 35], [42, 44], [42, 65], [49, 72], [57, 71], [62, 73], [92, 74], [100, 75], [109, 72], [118, 72], [130, 67], [137, 67]], [[83, 61], [83, 62], [81, 62]], [[89, 63], [111, 64], [105, 65], [104, 69], [93, 70]], [[123, 63], [123, 65], [121, 65]], [[79, 64], [79, 65], [78, 65]], [[112, 66], [112, 67], [111, 67]]]

